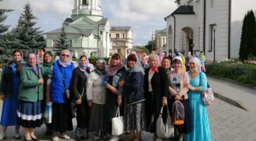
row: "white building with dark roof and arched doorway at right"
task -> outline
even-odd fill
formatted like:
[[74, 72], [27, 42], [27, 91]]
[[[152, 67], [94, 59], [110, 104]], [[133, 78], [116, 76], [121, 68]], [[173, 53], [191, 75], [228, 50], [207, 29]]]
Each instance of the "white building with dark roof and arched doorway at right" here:
[[[231, 0], [178, 0], [167, 22], [167, 53], [198, 54], [207, 60], [230, 58]], [[217, 29], [214, 30], [214, 23]]]

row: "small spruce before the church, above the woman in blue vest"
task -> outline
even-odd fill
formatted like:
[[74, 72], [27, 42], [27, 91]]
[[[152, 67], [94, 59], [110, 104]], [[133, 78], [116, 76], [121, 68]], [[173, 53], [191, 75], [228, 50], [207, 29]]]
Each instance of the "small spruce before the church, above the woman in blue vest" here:
[[[69, 42], [68, 38], [66, 37], [65, 28], [63, 25], [62, 31], [60, 31], [60, 36], [57, 40], [56, 48], [54, 49], [55, 55], [59, 56], [60, 52], [62, 52], [63, 49], [70, 50], [70, 48], [71, 48], [71, 43]], [[70, 52], [72, 52], [72, 50], [70, 50]]]

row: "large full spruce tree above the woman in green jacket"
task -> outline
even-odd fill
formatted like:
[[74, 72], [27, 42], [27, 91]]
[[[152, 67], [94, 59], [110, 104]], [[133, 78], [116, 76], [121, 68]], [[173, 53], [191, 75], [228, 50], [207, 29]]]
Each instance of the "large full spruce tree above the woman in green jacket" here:
[[[23, 54], [38, 52], [45, 47], [45, 39], [40, 28], [34, 28], [36, 17], [32, 14], [31, 5], [27, 3], [21, 13], [14, 32], [13, 48], [22, 49]], [[25, 55], [26, 56], [26, 55]]]

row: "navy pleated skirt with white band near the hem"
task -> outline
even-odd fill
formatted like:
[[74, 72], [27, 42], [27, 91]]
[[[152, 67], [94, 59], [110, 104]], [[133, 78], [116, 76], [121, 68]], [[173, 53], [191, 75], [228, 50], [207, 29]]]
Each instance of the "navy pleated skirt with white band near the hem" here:
[[17, 123], [26, 128], [40, 127], [42, 125], [41, 101], [28, 102], [20, 100]]

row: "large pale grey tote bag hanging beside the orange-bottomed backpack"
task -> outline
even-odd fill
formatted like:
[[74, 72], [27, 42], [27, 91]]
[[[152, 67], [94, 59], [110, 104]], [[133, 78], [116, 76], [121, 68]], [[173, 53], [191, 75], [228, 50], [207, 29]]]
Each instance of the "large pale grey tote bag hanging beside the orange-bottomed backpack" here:
[[162, 113], [163, 107], [161, 108], [161, 112], [159, 113], [159, 117], [156, 120], [156, 134], [159, 138], [170, 138], [174, 136], [174, 127], [172, 125], [172, 119], [170, 118], [169, 109], [167, 106], [167, 119], [166, 123], [163, 123]]

